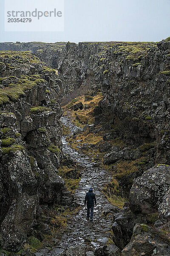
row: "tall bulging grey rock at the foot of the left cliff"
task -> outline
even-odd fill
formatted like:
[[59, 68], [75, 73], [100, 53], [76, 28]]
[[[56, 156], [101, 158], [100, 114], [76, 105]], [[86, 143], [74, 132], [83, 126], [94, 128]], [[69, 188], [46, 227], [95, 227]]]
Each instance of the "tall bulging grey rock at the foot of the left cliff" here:
[[5, 250], [17, 252], [36, 219], [39, 184], [25, 152], [11, 151], [1, 160], [0, 243]]

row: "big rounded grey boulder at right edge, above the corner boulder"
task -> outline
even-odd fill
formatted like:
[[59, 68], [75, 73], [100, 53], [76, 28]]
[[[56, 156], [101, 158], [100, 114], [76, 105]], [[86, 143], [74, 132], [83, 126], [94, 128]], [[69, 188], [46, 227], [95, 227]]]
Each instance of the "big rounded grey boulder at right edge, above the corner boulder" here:
[[157, 212], [170, 188], [170, 166], [158, 165], [133, 180], [129, 203], [133, 212]]

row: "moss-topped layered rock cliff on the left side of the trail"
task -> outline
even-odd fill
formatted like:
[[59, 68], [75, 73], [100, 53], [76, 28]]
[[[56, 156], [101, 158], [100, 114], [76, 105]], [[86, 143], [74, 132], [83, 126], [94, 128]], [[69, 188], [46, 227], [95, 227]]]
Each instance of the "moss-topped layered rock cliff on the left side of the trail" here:
[[61, 81], [30, 52], [0, 52], [0, 244], [18, 251], [61, 200]]

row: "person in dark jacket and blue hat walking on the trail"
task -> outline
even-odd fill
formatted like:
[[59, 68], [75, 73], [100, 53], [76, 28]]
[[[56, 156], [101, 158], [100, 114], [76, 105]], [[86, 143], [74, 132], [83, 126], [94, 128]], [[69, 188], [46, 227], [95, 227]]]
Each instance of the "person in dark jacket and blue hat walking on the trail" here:
[[87, 220], [93, 221], [94, 203], [96, 204], [96, 196], [93, 193], [93, 188], [90, 188], [85, 195], [85, 205], [87, 203]]

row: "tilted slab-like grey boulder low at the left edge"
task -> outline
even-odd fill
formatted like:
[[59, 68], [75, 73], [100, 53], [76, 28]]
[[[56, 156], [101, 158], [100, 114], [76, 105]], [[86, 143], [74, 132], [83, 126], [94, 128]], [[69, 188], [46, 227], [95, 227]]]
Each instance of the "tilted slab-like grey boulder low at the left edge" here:
[[39, 207], [38, 195], [23, 193], [11, 203], [1, 224], [1, 246], [7, 251], [18, 252], [33, 226]]

